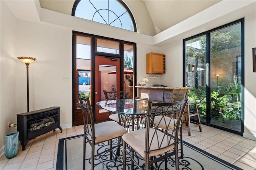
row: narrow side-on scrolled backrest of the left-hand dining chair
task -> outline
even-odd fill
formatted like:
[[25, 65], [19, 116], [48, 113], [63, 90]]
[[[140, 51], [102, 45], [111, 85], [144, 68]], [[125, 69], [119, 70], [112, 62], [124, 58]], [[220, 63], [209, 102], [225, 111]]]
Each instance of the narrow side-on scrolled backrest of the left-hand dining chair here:
[[80, 101], [80, 105], [82, 107], [82, 115], [84, 120], [84, 130], [85, 132], [90, 135], [92, 138], [94, 138], [94, 119], [92, 114], [92, 107], [90, 103], [89, 97], [81, 97], [80, 94], [78, 94], [78, 99]]

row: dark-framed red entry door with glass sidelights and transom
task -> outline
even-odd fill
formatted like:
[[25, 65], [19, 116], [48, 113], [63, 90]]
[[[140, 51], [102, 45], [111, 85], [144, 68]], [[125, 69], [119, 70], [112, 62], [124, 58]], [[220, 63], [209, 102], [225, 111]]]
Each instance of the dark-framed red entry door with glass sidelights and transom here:
[[94, 121], [108, 120], [96, 103], [105, 100], [103, 90], [125, 90], [128, 98], [136, 96], [136, 43], [124, 42], [73, 31], [72, 53], [72, 124], [82, 125], [78, 94], [89, 97]]

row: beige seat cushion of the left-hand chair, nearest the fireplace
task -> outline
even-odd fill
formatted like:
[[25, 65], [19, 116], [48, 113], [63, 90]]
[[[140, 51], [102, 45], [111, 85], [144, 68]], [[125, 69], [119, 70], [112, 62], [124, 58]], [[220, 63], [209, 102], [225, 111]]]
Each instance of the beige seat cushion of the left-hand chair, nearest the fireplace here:
[[95, 143], [104, 142], [112, 138], [117, 138], [127, 133], [126, 128], [113, 121], [106, 121], [94, 125]]

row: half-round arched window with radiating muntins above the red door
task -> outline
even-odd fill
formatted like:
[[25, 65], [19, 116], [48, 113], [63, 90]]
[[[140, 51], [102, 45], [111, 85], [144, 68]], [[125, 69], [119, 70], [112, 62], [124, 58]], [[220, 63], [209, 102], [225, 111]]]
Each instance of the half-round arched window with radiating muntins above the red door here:
[[122, 0], [76, 0], [72, 16], [137, 32], [132, 13]]

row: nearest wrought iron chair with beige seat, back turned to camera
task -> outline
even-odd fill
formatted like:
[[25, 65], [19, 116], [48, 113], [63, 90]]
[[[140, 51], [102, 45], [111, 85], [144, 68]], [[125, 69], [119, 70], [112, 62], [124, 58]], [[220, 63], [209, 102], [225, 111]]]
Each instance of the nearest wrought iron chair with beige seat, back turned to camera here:
[[[145, 160], [146, 170], [149, 170], [150, 166], [160, 160], [165, 160], [165, 169], [167, 169], [167, 161], [172, 161], [170, 156], [173, 155], [175, 155], [176, 170], [179, 169], [178, 133], [187, 101], [188, 99], [172, 103], [153, 103], [148, 101], [146, 128], [135, 130], [122, 136], [124, 170], [126, 170], [126, 155], [132, 160], [132, 168], [135, 163], [142, 170], [142, 167], [134, 159], [134, 151]], [[159, 130], [160, 123], [154, 123], [156, 117], [160, 117], [165, 122], [165, 129], [168, 129], [170, 124], [174, 124], [174, 128], [171, 131], [165, 130], [164, 132]], [[167, 117], [170, 119], [166, 119]], [[130, 147], [126, 148], [126, 145]], [[152, 169], [154, 168], [152, 167]]]

